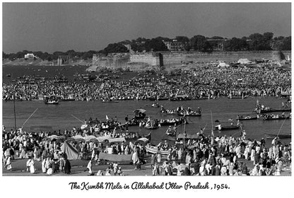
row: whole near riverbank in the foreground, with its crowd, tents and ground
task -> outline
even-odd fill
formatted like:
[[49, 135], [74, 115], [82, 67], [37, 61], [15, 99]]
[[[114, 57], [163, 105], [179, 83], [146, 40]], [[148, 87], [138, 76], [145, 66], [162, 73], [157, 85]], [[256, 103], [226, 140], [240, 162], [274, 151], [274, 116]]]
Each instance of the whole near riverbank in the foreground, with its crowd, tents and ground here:
[[[247, 139], [245, 132], [237, 137], [199, 132], [187, 142], [178, 139], [172, 145], [165, 140], [150, 146], [148, 139], [111, 141], [117, 139], [115, 132], [96, 138], [90, 138], [88, 130], [83, 136], [78, 135], [81, 132], [73, 129], [70, 134], [75, 136], [65, 131], [52, 137], [4, 129], [3, 174], [124, 175], [127, 171], [127, 175], [290, 175], [291, 144], [282, 144], [277, 138], [266, 145], [264, 139]], [[110, 136], [108, 141], [97, 141], [106, 136]], [[151, 147], [156, 151], [150, 156]], [[119, 161], [122, 157], [124, 160]]]

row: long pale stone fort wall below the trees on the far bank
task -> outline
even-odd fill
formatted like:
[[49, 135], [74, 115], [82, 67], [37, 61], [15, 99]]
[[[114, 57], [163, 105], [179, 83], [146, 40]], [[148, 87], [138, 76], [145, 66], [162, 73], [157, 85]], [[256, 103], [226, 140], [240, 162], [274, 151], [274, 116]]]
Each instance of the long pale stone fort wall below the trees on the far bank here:
[[[278, 59], [277, 51], [237, 51], [237, 52], [146, 52], [93, 54], [89, 70], [99, 68], [124, 68], [135, 66], [173, 66], [186, 62], [237, 62], [239, 59]], [[283, 51], [287, 58], [291, 51]]]

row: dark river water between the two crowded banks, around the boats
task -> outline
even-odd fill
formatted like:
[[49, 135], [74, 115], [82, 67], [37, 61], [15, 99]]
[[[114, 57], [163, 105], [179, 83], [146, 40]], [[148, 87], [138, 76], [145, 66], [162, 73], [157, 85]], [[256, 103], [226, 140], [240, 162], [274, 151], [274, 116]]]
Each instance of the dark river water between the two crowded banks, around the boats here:
[[[280, 108], [281, 103], [286, 100], [274, 97], [258, 98], [261, 104], [270, 106], [272, 108]], [[197, 107], [201, 107], [201, 117], [188, 117], [186, 124], [186, 131], [190, 134], [199, 132], [201, 127], [206, 126], [204, 133], [211, 133], [211, 112], [213, 116], [213, 127], [216, 125], [215, 120], [220, 122], [228, 122], [228, 119], [233, 119], [237, 115], [252, 114], [254, 110], [257, 98], [245, 98], [245, 99], [228, 99], [217, 98], [216, 100], [189, 100], [189, 101], [159, 101], [160, 105], [164, 105], [166, 109], [175, 109], [178, 106], [183, 105], [184, 109], [192, 107], [192, 110], [196, 110]], [[98, 120], [106, 120], [106, 115], [111, 119], [117, 116], [117, 119], [124, 122], [124, 117], [129, 115], [129, 118], [133, 116], [133, 110], [136, 108], [143, 108], [146, 110], [146, 115], [154, 119], [164, 119], [172, 117], [172, 115], [161, 115], [159, 113], [160, 108], [151, 107], [152, 101], [119, 101], [119, 103], [101, 103], [100, 101], [71, 101], [60, 102], [59, 105], [45, 105], [42, 101], [16, 101], [16, 125], [20, 127], [25, 120], [36, 110], [35, 114], [30, 117], [28, 122], [24, 125], [24, 130], [30, 130], [31, 127], [49, 126], [52, 130], [64, 130], [72, 129], [73, 127], [81, 127], [80, 120], [88, 120], [90, 117]], [[14, 127], [14, 114], [13, 114], [13, 102], [2, 103], [2, 122], [6, 129], [12, 129]], [[278, 112], [277, 112], [278, 113]], [[281, 112], [279, 112], [281, 114]], [[264, 120], [247, 120], [243, 121], [243, 129], [247, 132], [247, 137], [260, 140], [264, 137], [264, 133], [278, 134], [280, 127], [284, 120], [264, 121]], [[235, 121], [236, 124], [236, 121]], [[161, 127], [152, 131], [152, 142], [158, 144], [165, 136], [167, 127]], [[139, 132], [139, 134], [148, 134], [148, 130], [139, 129], [139, 127], [129, 127], [131, 132]], [[183, 131], [183, 126], [180, 126], [178, 132]], [[291, 132], [291, 121], [286, 120], [281, 128], [280, 134], [289, 134]], [[233, 135], [239, 136], [240, 129], [215, 132], [216, 135]], [[282, 139], [282, 142], [288, 143], [290, 139]]]

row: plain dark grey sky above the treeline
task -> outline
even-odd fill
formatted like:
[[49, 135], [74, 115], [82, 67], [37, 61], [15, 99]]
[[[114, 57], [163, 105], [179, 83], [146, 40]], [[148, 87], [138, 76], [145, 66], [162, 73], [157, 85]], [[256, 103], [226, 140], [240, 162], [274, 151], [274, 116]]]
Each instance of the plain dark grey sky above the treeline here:
[[88, 51], [137, 37], [291, 34], [290, 3], [4, 3], [3, 50]]

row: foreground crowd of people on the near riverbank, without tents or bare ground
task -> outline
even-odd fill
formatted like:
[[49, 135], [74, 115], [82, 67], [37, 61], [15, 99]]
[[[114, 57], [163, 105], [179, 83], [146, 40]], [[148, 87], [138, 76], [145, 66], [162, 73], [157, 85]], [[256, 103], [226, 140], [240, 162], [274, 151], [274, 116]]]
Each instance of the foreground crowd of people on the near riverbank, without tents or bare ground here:
[[[3, 129], [3, 164], [7, 170], [13, 169], [15, 158], [28, 159], [26, 170], [35, 173], [35, 163], [41, 163], [42, 173], [71, 173], [71, 163], [61, 151], [65, 139], [70, 136], [90, 135], [89, 131], [73, 128], [70, 132], [56, 133], [63, 138], [48, 139], [47, 132], [7, 131]], [[130, 133], [125, 132], [126, 135]], [[134, 135], [134, 134], [132, 134]], [[197, 139], [189, 139], [183, 145], [179, 139], [175, 144], [160, 142], [157, 153], [151, 156], [152, 175], [281, 175], [285, 164], [291, 163], [291, 144], [283, 145], [278, 138], [266, 146], [266, 141], [247, 139], [243, 132], [240, 137], [204, 136], [198, 133]], [[114, 132], [101, 132], [99, 136], [123, 137]], [[131, 155], [135, 168], [141, 170], [141, 164], [148, 163], [149, 144], [139, 141], [103, 142], [66, 141], [78, 152], [78, 159], [89, 160], [87, 168], [93, 174], [93, 164], [102, 163], [99, 153]], [[163, 156], [167, 151], [167, 156]], [[146, 158], [147, 157], [147, 158]], [[247, 164], [253, 163], [249, 169]], [[112, 174], [111, 174], [112, 173]], [[123, 175], [117, 162], [110, 163], [104, 175]], [[97, 175], [103, 175], [99, 170]]]

